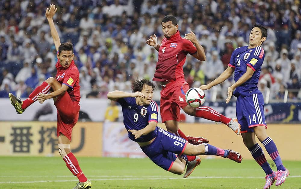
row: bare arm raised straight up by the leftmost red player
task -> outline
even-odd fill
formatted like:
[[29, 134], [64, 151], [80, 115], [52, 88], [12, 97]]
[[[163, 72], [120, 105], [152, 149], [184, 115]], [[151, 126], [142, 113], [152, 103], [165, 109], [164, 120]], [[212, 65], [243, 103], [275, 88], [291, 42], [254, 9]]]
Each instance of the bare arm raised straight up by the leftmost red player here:
[[49, 26], [50, 26], [51, 37], [53, 39], [55, 49], [58, 51], [58, 47], [61, 45], [61, 40], [60, 40], [60, 37], [58, 36], [57, 30], [55, 29], [54, 22], [52, 19], [52, 17], [56, 13], [56, 11], [57, 11], [57, 8], [55, 8], [55, 5], [51, 4], [50, 8], [46, 9], [45, 16], [46, 16]]

